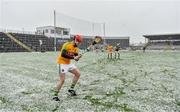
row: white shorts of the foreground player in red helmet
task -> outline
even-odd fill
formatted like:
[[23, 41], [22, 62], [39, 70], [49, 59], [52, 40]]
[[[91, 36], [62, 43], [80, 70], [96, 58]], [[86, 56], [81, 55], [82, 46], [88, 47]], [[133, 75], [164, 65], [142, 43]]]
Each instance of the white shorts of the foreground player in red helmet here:
[[74, 64], [59, 64], [59, 74], [67, 73], [75, 68], [77, 67]]

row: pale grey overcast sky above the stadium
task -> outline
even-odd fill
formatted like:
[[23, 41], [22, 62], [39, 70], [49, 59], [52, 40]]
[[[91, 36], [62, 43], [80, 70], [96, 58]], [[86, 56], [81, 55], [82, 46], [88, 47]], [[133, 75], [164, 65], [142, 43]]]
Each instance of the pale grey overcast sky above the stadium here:
[[57, 21], [65, 14], [105, 23], [106, 36], [129, 36], [130, 43], [144, 43], [143, 35], [180, 33], [180, 0], [0, 0], [0, 28], [35, 31], [54, 25], [54, 10]]

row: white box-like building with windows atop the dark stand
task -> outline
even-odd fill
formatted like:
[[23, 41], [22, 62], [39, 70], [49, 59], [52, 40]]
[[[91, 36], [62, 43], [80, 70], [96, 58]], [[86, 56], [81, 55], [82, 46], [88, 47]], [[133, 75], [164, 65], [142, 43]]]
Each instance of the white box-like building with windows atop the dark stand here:
[[47, 37], [70, 38], [70, 28], [61, 28], [54, 26], [37, 27], [36, 33]]

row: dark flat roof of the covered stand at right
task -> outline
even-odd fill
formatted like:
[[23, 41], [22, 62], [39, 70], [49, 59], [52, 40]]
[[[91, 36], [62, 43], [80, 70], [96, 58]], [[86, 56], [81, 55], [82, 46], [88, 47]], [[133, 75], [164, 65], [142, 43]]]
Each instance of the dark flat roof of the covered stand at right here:
[[180, 34], [155, 34], [155, 35], [143, 35], [150, 40], [174, 40], [180, 39]]

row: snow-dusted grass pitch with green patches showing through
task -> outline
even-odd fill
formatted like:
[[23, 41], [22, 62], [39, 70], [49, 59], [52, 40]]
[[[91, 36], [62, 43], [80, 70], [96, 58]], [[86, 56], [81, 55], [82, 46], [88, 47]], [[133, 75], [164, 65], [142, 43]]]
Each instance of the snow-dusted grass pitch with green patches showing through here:
[[59, 79], [58, 53], [0, 54], [0, 111], [180, 111], [180, 52], [122, 51], [121, 59], [89, 52], [79, 62], [78, 96], [67, 90], [61, 102], [52, 101], [51, 89]]

